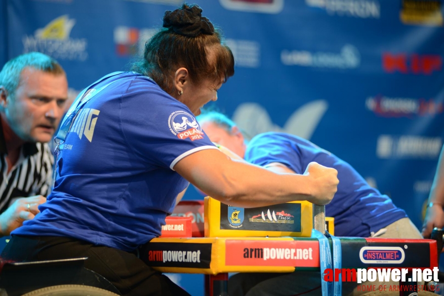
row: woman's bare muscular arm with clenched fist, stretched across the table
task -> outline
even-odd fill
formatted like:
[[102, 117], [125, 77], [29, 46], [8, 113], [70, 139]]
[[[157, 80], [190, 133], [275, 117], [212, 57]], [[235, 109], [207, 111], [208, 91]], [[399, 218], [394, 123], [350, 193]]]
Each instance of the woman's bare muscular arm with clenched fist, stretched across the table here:
[[324, 205], [338, 184], [337, 171], [317, 163], [311, 163], [304, 175], [278, 174], [215, 149], [184, 157], [174, 170], [211, 197], [245, 208], [294, 200]]

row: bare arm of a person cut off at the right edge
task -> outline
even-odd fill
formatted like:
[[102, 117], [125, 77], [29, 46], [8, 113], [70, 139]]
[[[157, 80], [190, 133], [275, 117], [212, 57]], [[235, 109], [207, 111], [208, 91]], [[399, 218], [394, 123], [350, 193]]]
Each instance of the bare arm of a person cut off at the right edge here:
[[426, 217], [422, 226], [422, 235], [425, 238], [430, 237], [434, 227], [444, 227], [444, 146], [441, 150], [438, 160], [438, 167], [432, 188], [430, 190], [428, 203], [433, 202], [433, 206], [427, 208]]

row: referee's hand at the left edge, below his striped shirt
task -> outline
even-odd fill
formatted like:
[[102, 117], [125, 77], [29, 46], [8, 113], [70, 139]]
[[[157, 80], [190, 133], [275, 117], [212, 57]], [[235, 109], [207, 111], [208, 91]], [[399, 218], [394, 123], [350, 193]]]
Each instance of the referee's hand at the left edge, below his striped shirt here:
[[0, 215], [0, 236], [9, 235], [12, 230], [20, 227], [24, 221], [34, 219], [40, 213], [39, 205], [45, 201], [46, 198], [42, 195], [20, 197], [14, 201]]

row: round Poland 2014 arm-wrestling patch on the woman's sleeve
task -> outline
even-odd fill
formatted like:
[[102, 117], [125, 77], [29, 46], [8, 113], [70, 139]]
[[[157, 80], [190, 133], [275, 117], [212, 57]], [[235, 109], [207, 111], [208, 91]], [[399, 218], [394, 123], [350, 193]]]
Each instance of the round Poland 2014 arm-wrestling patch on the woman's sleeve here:
[[196, 118], [185, 111], [174, 111], [168, 117], [168, 127], [171, 133], [181, 140], [191, 141], [203, 139], [203, 131]]

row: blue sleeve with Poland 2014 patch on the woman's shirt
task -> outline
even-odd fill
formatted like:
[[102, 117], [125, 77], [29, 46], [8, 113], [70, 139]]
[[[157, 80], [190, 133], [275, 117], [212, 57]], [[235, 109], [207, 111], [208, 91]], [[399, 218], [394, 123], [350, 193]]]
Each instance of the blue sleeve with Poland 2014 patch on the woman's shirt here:
[[193, 113], [161, 88], [134, 79], [122, 96], [121, 124], [129, 146], [147, 164], [169, 167], [204, 149], [217, 149]]

